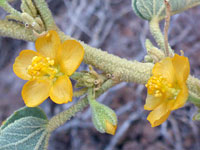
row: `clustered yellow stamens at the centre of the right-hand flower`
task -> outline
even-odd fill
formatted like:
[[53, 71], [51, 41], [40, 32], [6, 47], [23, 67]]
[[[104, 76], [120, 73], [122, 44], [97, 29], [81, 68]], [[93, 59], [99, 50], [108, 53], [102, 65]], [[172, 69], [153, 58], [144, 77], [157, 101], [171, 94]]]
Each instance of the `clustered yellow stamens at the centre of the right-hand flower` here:
[[163, 76], [152, 76], [145, 85], [148, 94], [155, 97], [165, 96], [167, 99], [176, 99], [180, 89], [174, 88]]

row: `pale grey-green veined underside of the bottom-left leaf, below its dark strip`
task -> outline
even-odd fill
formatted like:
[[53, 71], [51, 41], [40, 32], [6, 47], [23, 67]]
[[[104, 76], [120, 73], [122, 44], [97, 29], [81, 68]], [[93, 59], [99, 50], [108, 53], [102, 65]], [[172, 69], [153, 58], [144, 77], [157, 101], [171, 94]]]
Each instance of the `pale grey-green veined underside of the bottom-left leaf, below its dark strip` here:
[[44, 150], [47, 123], [36, 117], [16, 120], [0, 131], [0, 150]]

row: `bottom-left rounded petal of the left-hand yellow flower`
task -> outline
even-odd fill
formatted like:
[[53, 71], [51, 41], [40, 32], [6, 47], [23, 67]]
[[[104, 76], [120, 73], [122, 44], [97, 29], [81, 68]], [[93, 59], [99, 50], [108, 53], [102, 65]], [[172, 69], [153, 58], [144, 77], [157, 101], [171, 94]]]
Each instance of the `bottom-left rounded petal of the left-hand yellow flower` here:
[[22, 89], [22, 97], [26, 106], [36, 107], [49, 96], [51, 83], [46, 80], [28, 81]]

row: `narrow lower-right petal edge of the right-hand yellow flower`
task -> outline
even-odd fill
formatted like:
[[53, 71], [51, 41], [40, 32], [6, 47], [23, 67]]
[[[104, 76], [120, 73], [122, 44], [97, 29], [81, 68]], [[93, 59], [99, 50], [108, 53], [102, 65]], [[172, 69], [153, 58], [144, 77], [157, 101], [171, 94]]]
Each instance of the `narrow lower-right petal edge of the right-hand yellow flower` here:
[[187, 99], [188, 99], [188, 88], [186, 84], [181, 85], [181, 91], [179, 92], [178, 96], [176, 97], [176, 100], [174, 102], [174, 105], [172, 106], [171, 110], [175, 110], [178, 108], [181, 108], [185, 105]]

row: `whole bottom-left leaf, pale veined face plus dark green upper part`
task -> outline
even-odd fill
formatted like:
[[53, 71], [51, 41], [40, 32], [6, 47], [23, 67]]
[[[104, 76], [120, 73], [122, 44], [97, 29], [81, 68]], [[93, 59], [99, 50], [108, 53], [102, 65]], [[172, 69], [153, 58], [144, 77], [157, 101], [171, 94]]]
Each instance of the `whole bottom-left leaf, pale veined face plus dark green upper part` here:
[[39, 107], [24, 107], [0, 128], [0, 150], [44, 150], [49, 138], [48, 119]]

